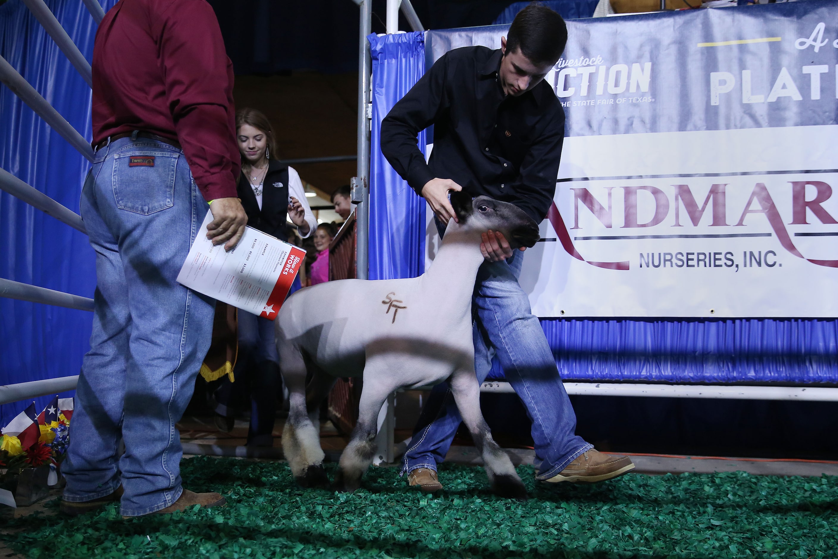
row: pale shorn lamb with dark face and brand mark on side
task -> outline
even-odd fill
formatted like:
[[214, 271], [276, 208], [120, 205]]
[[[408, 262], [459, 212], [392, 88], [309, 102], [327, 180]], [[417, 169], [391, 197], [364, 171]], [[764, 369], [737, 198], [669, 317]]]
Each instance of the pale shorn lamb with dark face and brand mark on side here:
[[290, 394], [282, 448], [298, 484], [328, 484], [318, 413], [336, 378], [364, 378], [358, 422], [334, 480], [340, 491], [360, 487], [375, 454], [376, 420], [387, 396], [448, 380], [494, 492], [526, 499], [524, 484], [480, 412], [472, 294], [484, 261], [481, 234], [500, 231], [513, 248], [531, 247], [538, 225], [515, 205], [486, 196], [453, 193], [451, 201], [459, 222], [448, 223], [433, 266], [422, 276], [321, 283], [295, 292], [282, 305], [277, 349]]

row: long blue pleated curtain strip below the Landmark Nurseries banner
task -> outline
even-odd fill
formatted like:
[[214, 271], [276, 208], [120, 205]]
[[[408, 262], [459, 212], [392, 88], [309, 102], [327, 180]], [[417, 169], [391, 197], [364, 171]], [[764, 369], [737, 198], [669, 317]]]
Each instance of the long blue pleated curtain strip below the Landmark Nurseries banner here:
[[[838, 383], [838, 321], [580, 320], [546, 318], [566, 380]], [[503, 378], [494, 362], [489, 378]]]

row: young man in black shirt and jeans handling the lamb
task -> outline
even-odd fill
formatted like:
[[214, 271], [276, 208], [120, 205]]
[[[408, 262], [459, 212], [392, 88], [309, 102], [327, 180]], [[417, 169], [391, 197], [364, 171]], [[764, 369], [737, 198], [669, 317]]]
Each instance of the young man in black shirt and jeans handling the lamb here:
[[[561, 56], [561, 16], [540, 4], [523, 9], [501, 48], [465, 47], [444, 54], [381, 124], [381, 152], [416, 193], [427, 199], [441, 234], [457, 220], [450, 191], [488, 195], [544, 220], [556, 191], [565, 114], [544, 77]], [[431, 158], [416, 145], [434, 126]], [[629, 458], [599, 453], [577, 437], [576, 415], [546, 336], [520, 287], [524, 248], [512, 251], [500, 233], [484, 235], [474, 304], [475, 370], [483, 381], [498, 355], [506, 379], [532, 421], [536, 479], [611, 479], [634, 468]], [[423, 491], [442, 489], [437, 463], [460, 423], [447, 386], [437, 386], [405, 453], [402, 474]]]

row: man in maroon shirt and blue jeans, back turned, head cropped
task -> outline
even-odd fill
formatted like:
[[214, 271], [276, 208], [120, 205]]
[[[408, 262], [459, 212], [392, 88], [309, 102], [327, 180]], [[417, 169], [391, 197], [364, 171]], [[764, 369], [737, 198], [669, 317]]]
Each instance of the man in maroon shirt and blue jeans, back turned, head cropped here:
[[208, 209], [215, 245], [230, 250], [244, 233], [232, 90], [205, 0], [121, 0], [102, 20], [96, 159], [80, 208], [96, 251], [96, 308], [61, 468], [67, 514], [117, 499], [124, 516], [225, 503], [181, 487], [175, 422], [209, 349], [215, 301], [176, 277]]

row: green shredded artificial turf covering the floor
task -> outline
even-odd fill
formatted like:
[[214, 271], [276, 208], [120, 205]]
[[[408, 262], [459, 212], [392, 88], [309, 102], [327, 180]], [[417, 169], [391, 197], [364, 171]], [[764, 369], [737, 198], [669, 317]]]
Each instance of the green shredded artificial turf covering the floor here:
[[[629, 474], [596, 485], [536, 484], [519, 503], [482, 468], [446, 465], [446, 490], [409, 489], [370, 468], [362, 489], [300, 489], [286, 463], [191, 458], [184, 485], [229, 505], [122, 520], [116, 505], [28, 516], [3, 538], [27, 557], [836, 557], [838, 478]], [[334, 464], [328, 464], [334, 475]], [[53, 505], [57, 506], [57, 504]]]

